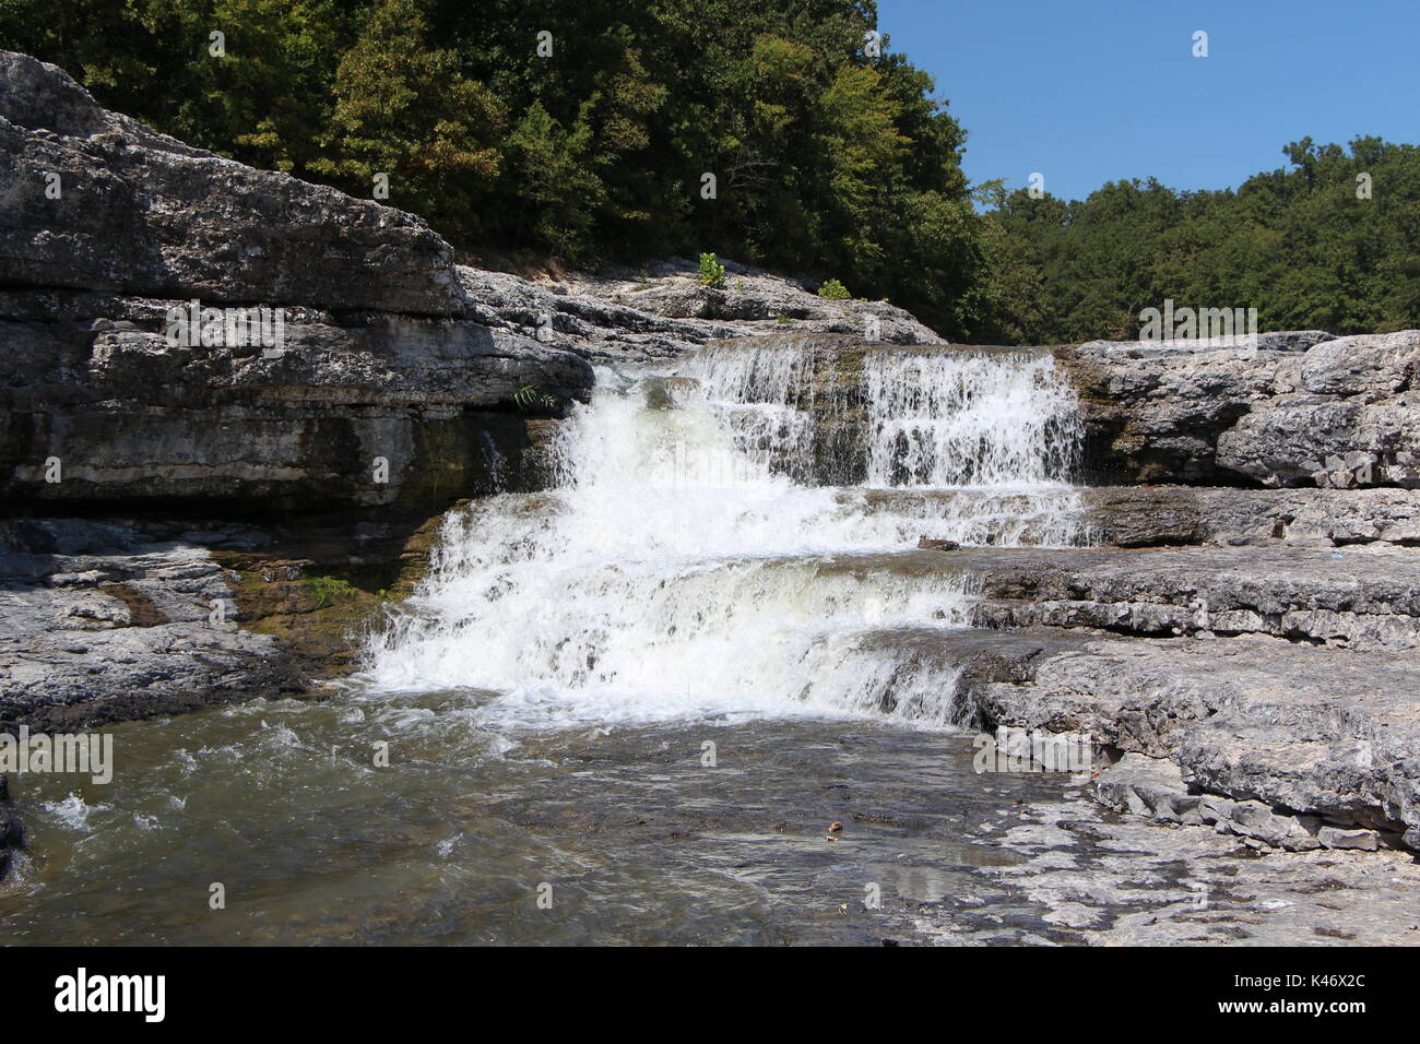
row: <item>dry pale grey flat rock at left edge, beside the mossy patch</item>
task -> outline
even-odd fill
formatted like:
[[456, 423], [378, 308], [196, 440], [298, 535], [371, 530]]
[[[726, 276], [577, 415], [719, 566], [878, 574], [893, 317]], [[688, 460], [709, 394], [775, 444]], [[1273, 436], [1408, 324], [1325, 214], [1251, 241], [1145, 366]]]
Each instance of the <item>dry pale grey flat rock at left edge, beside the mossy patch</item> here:
[[206, 544], [246, 527], [0, 523], [0, 729], [71, 732], [304, 689], [275, 638], [239, 626]]

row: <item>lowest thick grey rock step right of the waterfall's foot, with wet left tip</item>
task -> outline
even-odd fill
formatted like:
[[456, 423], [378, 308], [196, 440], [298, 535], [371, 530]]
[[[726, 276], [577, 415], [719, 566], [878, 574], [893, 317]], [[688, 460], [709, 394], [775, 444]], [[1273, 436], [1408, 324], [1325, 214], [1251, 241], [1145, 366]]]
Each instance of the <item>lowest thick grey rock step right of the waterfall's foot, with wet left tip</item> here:
[[967, 726], [1083, 733], [1149, 758], [1100, 777], [1116, 808], [1292, 849], [1420, 848], [1420, 652], [1056, 628], [880, 641], [954, 668]]

